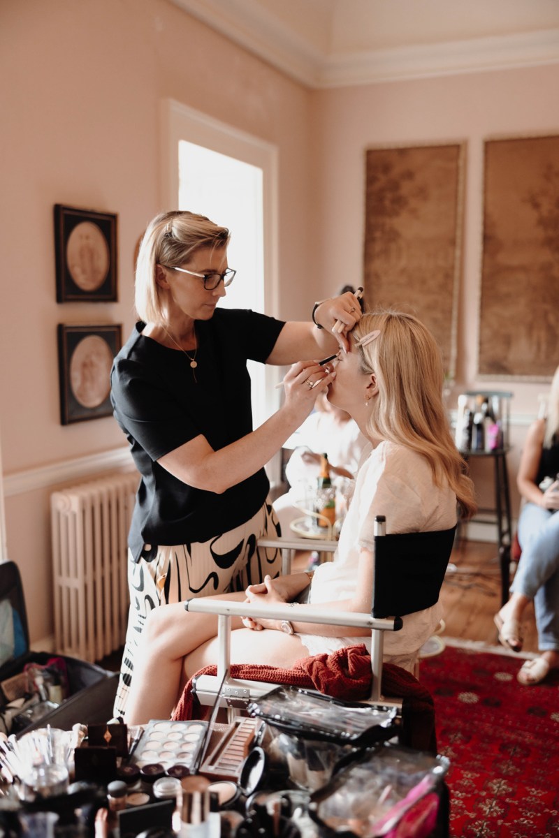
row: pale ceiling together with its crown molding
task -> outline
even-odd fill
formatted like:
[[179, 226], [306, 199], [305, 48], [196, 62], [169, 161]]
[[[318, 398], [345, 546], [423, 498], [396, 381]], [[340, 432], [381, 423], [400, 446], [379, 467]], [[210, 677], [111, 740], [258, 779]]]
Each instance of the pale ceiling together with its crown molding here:
[[559, 62], [558, 0], [172, 0], [310, 87]]

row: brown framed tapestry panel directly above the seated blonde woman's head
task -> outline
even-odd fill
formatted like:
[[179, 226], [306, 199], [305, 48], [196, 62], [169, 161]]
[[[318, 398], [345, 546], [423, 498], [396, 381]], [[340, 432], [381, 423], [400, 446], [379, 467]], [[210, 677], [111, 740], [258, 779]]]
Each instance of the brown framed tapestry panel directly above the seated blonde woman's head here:
[[415, 314], [456, 373], [465, 142], [374, 147], [365, 160], [368, 308]]

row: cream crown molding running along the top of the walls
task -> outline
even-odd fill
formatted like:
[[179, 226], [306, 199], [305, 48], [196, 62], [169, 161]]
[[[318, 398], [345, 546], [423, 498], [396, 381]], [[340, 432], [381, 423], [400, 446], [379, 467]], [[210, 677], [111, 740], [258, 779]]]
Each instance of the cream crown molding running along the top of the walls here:
[[366, 85], [559, 62], [559, 29], [327, 55], [250, 0], [172, 0], [311, 88]]

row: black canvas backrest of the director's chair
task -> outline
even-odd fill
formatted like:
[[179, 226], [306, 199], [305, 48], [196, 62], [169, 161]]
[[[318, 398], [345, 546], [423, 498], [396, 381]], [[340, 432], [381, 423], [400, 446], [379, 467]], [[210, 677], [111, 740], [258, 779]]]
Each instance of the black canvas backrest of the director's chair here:
[[455, 533], [454, 526], [435, 532], [375, 535], [373, 617], [404, 617], [437, 603]]

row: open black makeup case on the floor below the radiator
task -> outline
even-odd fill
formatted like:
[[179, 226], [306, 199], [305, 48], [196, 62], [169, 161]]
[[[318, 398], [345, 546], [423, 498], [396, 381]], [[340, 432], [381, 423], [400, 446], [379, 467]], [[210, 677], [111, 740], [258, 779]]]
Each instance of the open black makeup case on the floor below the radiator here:
[[[33, 652], [18, 566], [0, 563], [0, 730], [71, 730], [113, 715], [118, 673], [69, 655]], [[39, 686], [40, 695], [34, 688]]]

